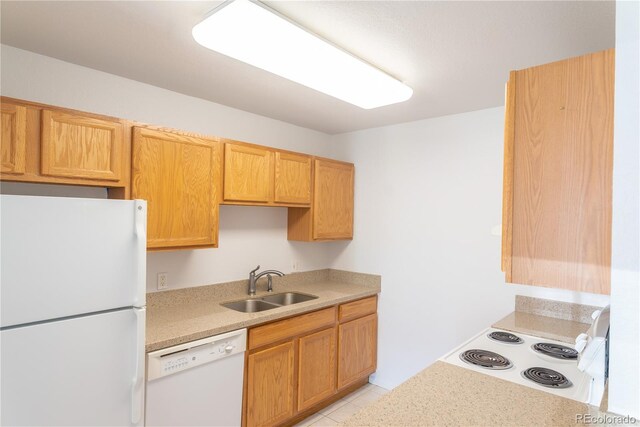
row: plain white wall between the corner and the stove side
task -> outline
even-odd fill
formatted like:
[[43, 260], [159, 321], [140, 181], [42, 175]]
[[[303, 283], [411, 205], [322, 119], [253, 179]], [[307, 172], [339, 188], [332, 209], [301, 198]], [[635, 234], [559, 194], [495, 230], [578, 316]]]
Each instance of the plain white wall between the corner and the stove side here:
[[383, 387], [512, 312], [515, 294], [609, 302], [504, 283], [503, 129], [504, 109], [492, 108], [334, 137], [356, 162], [355, 238], [334, 267], [382, 275], [374, 382]]

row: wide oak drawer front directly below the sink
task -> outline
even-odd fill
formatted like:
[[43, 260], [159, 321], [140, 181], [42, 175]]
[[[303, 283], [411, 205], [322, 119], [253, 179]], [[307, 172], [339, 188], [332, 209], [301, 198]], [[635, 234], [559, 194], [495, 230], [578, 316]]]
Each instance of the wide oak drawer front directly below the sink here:
[[249, 330], [249, 350], [262, 347], [336, 322], [336, 308], [329, 307]]

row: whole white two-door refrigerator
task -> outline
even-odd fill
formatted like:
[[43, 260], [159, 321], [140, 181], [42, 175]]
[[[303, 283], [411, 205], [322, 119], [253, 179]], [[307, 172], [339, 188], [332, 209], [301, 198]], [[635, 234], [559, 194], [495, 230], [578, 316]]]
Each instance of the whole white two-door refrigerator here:
[[146, 202], [0, 197], [0, 424], [144, 425]]

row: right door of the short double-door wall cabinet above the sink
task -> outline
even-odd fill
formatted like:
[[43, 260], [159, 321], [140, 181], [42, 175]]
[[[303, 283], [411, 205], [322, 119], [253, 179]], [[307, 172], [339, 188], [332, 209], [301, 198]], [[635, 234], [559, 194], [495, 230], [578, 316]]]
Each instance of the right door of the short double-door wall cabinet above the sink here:
[[275, 201], [311, 203], [311, 157], [276, 152]]

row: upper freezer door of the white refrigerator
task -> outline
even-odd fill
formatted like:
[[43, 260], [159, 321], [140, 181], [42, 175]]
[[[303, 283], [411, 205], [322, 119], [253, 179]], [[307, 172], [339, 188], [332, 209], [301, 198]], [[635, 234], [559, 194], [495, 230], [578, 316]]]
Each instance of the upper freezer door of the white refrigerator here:
[[146, 202], [1, 197], [2, 327], [145, 305]]

